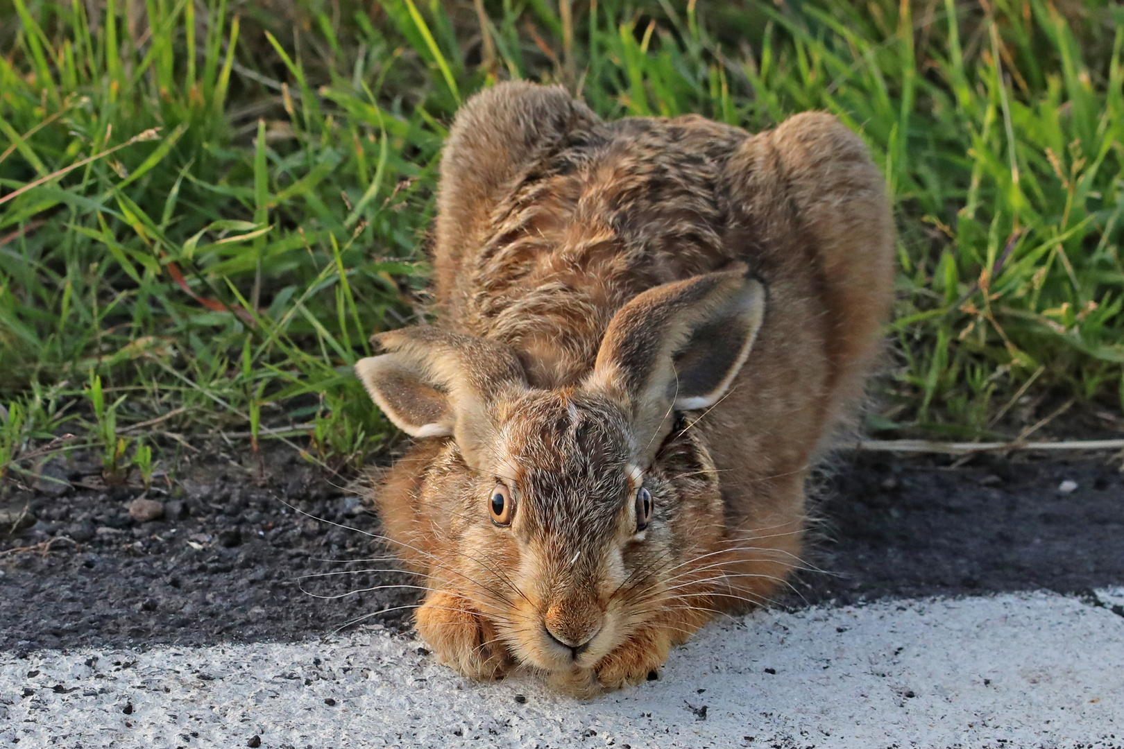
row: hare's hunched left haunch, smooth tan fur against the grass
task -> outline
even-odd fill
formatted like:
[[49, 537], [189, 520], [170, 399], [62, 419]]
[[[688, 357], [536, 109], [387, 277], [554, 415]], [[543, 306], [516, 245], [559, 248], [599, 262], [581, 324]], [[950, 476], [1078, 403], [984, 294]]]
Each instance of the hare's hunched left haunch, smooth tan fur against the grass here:
[[492, 211], [520, 173], [552, 144], [598, 121], [561, 86], [500, 83], [472, 97], [456, 113], [441, 159], [437, 194], [437, 302], [455, 295], [462, 261], [479, 248]]

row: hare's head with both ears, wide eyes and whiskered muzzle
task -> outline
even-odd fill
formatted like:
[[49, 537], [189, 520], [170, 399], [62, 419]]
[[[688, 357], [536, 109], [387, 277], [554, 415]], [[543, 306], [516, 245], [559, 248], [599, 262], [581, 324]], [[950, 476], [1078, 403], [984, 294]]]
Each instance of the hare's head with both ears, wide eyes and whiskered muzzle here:
[[356, 365], [371, 396], [409, 435], [446, 440], [414, 500], [434, 584], [551, 672], [591, 667], [691, 605], [714, 578], [690, 563], [722, 538], [722, 502], [678, 412], [723, 396], [763, 310], [744, 267], [651, 289], [613, 318], [586, 380], [555, 390], [492, 340], [377, 336], [388, 353]]

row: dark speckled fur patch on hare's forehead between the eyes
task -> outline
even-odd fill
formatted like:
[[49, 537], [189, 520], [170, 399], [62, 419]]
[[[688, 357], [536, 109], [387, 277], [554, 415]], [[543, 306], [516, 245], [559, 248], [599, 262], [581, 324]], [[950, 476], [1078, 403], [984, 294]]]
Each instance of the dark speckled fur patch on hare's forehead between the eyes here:
[[573, 392], [533, 393], [501, 427], [520, 466], [520, 512], [536, 533], [595, 542], [615, 529], [628, 492], [626, 423], [619, 408]]

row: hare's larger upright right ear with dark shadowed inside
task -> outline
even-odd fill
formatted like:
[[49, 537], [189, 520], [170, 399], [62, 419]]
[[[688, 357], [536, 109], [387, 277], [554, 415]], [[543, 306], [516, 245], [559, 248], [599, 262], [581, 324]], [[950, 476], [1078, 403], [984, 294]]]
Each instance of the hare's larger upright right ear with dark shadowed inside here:
[[659, 447], [677, 410], [718, 401], [764, 318], [765, 289], [744, 265], [650, 289], [620, 308], [586, 382], [627, 405], [633, 433]]

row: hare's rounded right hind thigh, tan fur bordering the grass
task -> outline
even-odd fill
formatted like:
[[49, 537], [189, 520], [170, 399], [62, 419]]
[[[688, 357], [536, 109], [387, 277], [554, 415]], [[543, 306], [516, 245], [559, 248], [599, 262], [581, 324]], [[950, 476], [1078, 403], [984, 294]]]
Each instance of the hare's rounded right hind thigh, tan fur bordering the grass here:
[[[765, 228], [762, 261], [810, 261], [803, 272], [814, 273], [826, 317], [824, 395], [833, 421], [861, 395], [892, 299], [894, 218], [885, 179], [859, 136], [824, 112], [796, 115], [751, 138], [731, 166], [747, 172], [743, 205], [747, 223]], [[804, 247], [787, 246], [794, 238]]]

